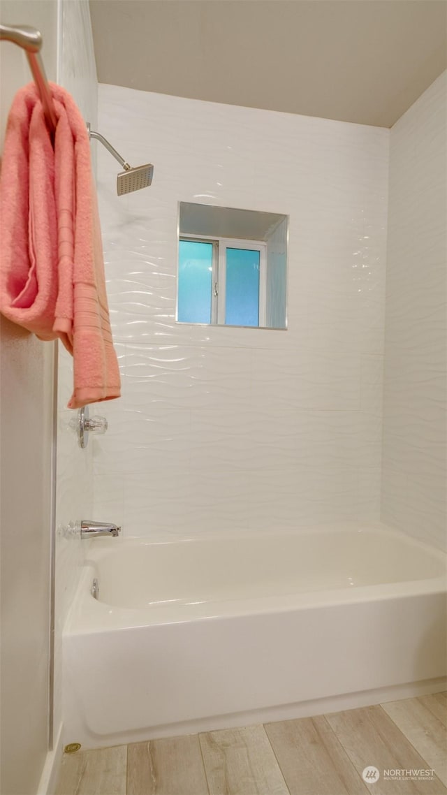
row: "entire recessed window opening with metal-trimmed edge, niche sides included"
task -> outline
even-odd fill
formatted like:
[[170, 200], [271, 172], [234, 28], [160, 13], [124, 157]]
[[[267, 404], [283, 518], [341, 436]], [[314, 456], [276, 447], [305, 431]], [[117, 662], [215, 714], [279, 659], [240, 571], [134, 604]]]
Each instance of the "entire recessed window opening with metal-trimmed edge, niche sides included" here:
[[179, 205], [177, 322], [286, 328], [288, 218]]

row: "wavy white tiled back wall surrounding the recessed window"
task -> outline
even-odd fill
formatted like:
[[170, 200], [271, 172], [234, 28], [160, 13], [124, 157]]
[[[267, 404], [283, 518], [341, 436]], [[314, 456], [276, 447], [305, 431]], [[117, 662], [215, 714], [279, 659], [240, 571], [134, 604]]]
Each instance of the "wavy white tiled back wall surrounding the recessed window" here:
[[[154, 184], [99, 203], [122, 399], [95, 518], [125, 533], [379, 518], [389, 130], [99, 86]], [[177, 203], [290, 215], [287, 331], [176, 324]]]

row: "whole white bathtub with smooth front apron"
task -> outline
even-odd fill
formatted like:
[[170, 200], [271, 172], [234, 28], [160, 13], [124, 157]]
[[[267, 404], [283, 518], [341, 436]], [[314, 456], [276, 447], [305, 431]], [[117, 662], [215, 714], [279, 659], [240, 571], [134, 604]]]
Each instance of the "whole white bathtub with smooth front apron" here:
[[64, 631], [65, 743], [110, 746], [445, 688], [445, 555], [395, 529], [85, 544]]

